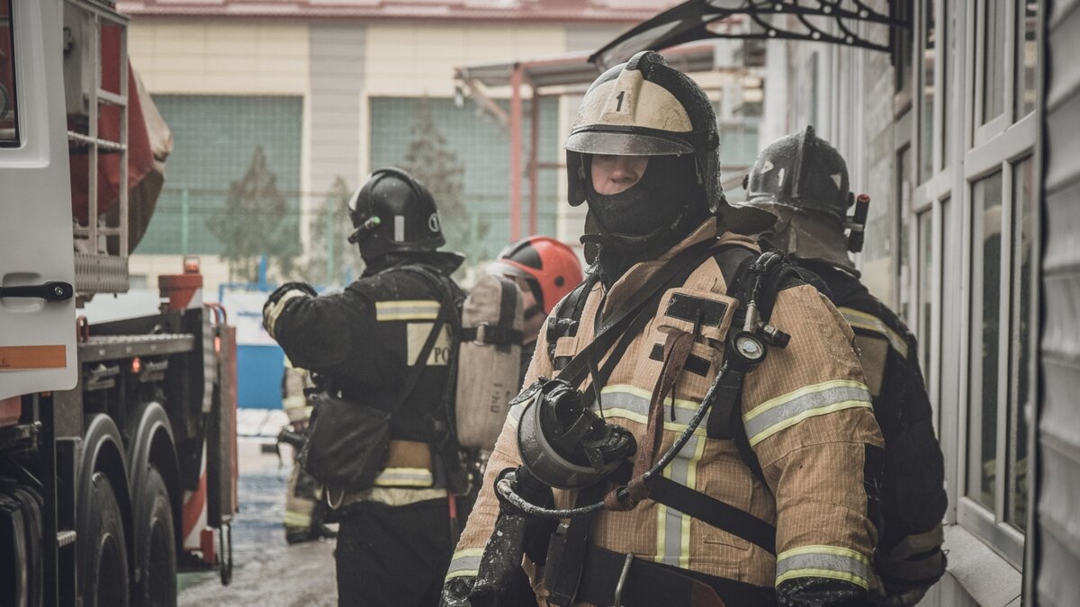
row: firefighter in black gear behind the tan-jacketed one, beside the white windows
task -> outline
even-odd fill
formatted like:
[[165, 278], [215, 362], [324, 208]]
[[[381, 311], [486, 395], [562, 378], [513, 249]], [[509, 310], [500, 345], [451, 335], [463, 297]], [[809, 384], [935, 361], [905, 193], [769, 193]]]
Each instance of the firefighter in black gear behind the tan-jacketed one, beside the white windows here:
[[[741, 205], [764, 212], [755, 231], [764, 231], [767, 245], [820, 276], [855, 333], [887, 446], [875, 569], [886, 605], [915, 605], [945, 571], [944, 458], [915, 336], [859, 281], [848, 255], [862, 247], [865, 207], [861, 219], [848, 217], [856, 203], [849, 191], [847, 163], [813, 126], [766, 148], [747, 176], [746, 189]], [[865, 198], [859, 204], [868, 202]], [[846, 228], [851, 237], [845, 235]]]

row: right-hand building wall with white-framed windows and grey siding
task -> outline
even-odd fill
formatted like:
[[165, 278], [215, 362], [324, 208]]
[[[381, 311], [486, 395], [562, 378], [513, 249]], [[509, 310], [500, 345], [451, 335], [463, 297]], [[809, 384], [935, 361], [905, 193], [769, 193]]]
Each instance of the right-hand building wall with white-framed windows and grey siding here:
[[873, 198], [860, 267], [919, 338], [945, 453], [924, 604], [1075, 605], [1080, 10], [894, 4], [890, 53], [769, 43], [762, 143], [813, 124]]

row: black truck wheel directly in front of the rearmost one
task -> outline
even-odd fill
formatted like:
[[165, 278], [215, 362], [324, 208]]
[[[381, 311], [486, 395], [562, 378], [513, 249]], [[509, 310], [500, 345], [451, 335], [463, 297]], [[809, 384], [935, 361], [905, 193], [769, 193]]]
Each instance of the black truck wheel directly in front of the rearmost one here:
[[127, 547], [120, 504], [105, 473], [94, 472], [90, 487], [90, 516], [86, 528], [79, 532], [83, 544], [83, 605], [126, 607]]

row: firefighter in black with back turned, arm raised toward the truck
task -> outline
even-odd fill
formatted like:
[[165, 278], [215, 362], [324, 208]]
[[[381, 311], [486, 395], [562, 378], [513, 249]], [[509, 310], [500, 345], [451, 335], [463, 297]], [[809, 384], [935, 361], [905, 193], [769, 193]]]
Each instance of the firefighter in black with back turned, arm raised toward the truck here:
[[[458, 462], [440, 447], [457, 329], [441, 324], [441, 334], [429, 336], [441, 310], [463, 297], [449, 278], [463, 258], [437, 251], [445, 240], [435, 202], [404, 171], [376, 171], [349, 206], [363, 275], [335, 295], [283, 285], [264, 308], [264, 325], [295, 365], [316, 374], [320, 388], [391, 414], [374, 486], [329, 500], [340, 523], [339, 605], [434, 605], [457, 541], [459, 504], [447, 478]], [[443, 301], [448, 293], [455, 301]], [[400, 394], [417, 365], [419, 379]]]

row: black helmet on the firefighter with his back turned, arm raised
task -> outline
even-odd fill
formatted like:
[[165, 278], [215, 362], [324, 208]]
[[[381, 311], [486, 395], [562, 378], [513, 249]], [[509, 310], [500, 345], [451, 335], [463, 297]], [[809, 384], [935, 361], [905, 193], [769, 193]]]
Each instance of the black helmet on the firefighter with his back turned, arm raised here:
[[387, 253], [435, 251], [446, 244], [431, 192], [415, 177], [393, 166], [372, 173], [349, 200], [355, 228], [349, 242], [365, 259]]

